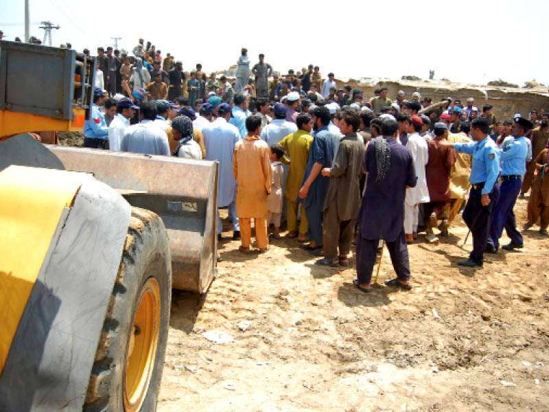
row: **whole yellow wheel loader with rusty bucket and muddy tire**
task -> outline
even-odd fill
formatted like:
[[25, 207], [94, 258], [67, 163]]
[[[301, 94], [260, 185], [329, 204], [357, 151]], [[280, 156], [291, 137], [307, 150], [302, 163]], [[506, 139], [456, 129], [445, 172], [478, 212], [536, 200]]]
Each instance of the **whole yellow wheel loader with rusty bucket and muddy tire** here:
[[40, 144], [95, 61], [0, 41], [0, 411], [154, 411], [172, 288], [215, 275], [218, 163]]

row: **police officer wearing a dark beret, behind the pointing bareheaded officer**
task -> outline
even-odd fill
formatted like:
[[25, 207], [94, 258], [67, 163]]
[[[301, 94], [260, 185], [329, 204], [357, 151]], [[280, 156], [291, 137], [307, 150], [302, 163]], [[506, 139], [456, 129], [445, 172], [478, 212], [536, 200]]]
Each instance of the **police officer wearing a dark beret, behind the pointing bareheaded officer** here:
[[501, 185], [500, 198], [493, 210], [493, 220], [489, 231], [487, 251], [497, 253], [499, 239], [502, 236], [503, 228], [511, 243], [502, 247], [507, 251], [522, 248], [522, 235], [517, 231], [515, 224], [515, 214], [513, 207], [517, 201], [520, 188], [522, 186], [522, 177], [526, 173], [526, 156], [528, 155], [528, 145], [526, 144], [526, 133], [533, 128], [532, 122], [524, 117], [515, 117], [515, 123], [511, 128], [511, 135], [514, 137], [509, 146], [500, 151]]

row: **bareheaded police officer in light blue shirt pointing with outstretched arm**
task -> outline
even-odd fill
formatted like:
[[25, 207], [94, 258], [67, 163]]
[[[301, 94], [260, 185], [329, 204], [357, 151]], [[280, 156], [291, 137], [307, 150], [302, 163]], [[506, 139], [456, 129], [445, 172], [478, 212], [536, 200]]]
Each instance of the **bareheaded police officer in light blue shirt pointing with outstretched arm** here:
[[469, 259], [458, 262], [461, 266], [482, 266], [484, 250], [486, 249], [488, 231], [491, 226], [493, 207], [498, 203], [500, 189], [498, 175], [500, 174], [500, 152], [498, 146], [489, 137], [490, 119], [477, 117], [471, 122], [471, 137], [474, 142], [449, 143], [456, 152], [473, 155], [471, 168], [471, 192], [465, 209], [463, 220], [473, 235], [473, 251]]

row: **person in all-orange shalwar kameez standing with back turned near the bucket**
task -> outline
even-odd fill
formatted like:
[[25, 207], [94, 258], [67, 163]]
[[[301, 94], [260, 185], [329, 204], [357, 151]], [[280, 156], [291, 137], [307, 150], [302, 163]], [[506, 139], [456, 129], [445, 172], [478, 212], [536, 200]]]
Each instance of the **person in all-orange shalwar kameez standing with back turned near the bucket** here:
[[236, 214], [240, 222], [241, 252], [250, 251], [251, 220], [255, 221], [255, 237], [259, 251], [268, 249], [267, 238], [267, 196], [270, 193], [272, 169], [270, 149], [259, 139], [261, 117], [254, 115], [246, 119], [248, 135], [235, 146], [233, 173], [237, 182]]

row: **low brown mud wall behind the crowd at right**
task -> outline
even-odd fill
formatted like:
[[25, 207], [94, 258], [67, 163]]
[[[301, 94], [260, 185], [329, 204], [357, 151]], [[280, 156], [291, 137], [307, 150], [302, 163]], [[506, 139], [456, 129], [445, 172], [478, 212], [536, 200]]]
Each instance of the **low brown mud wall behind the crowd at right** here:
[[350, 79], [347, 82], [338, 80], [338, 88], [345, 84], [351, 84], [353, 89], [356, 87], [364, 92], [364, 98], [373, 97], [374, 89], [387, 87], [388, 98], [395, 100], [397, 91], [404, 90], [406, 99], [412, 97], [414, 91], [419, 91], [422, 98], [432, 98], [433, 102], [440, 102], [441, 99], [448, 96], [452, 99], [459, 99], [466, 105], [467, 98], [475, 99], [475, 106], [482, 112], [482, 106], [489, 102], [493, 104], [493, 114], [498, 120], [511, 120], [515, 113], [521, 113], [528, 116], [533, 108], [537, 110], [544, 108], [546, 113], [549, 111], [549, 94], [544, 88], [522, 89], [522, 88], [503, 88], [503, 87], [467, 87], [456, 83], [430, 83], [430, 82], [395, 82], [391, 80], [379, 81], [375, 83], [358, 82]]

